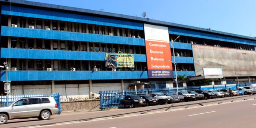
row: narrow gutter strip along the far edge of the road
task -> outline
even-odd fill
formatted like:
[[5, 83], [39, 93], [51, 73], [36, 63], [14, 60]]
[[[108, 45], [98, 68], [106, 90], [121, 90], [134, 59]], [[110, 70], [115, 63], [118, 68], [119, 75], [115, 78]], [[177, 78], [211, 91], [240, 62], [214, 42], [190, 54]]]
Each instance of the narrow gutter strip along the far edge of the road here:
[[[243, 96], [243, 97], [249, 97], [249, 96], [251, 96], [251, 95], [247, 95], [247, 96]], [[168, 107], [161, 107], [161, 108], [149, 109], [149, 110], [144, 110], [144, 111], [128, 112], [128, 113], [115, 114], [115, 115], [110, 115], [110, 116], [100, 116], [100, 117], [96, 117], [96, 118], [76, 119], [76, 120], [72, 120], [72, 121], [60, 121], [60, 122], [55, 122], [55, 123], [45, 123], [45, 124], [39, 124], [39, 125], [27, 125], [27, 126], [18, 126], [18, 127], [10, 127], [10, 128], [29, 128], [29, 127], [35, 127], [35, 126], [47, 126], [47, 125], [57, 125], [57, 124], [62, 124], [62, 123], [74, 123], [74, 122], [81, 122], [81, 121], [90, 121], [90, 120], [93, 120], [93, 119], [100, 119], [100, 118], [116, 118], [116, 117], [121, 117], [121, 116], [125, 116], [125, 115], [128, 115], [128, 114], [134, 114], [134, 113], [140, 113], [140, 112], [142, 112], [140, 114], [145, 114], [147, 112], [158, 110], [158, 109], [166, 109], [165, 111], [167, 111], [171, 107], [187, 106], [185, 108], [188, 108], [192, 105], [197, 105], [197, 104], [199, 104], [201, 106], [204, 106], [203, 104], [211, 103], [211, 102], [218, 102], [218, 104], [221, 104], [222, 102], [219, 102], [219, 101], [231, 100], [231, 102], [233, 102], [234, 99], [239, 99], [239, 98], [242, 98], [242, 97], [234, 97], [234, 98], [230, 98], [230, 99], [220, 99], [220, 100], [207, 101], [207, 102], [198, 102], [198, 103], [193, 103], [193, 104], [182, 104], [182, 105], [171, 104], [171, 106], [168, 106]], [[255, 99], [255, 98], [253, 98], [253, 99]], [[247, 100], [247, 99], [244, 99], [244, 100]]]

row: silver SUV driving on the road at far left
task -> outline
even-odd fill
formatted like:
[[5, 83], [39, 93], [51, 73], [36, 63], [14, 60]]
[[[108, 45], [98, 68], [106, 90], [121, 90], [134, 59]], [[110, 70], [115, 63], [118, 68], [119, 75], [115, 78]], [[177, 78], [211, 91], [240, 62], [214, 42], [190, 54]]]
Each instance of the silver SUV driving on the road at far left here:
[[58, 112], [54, 97], [22, 98], [7, 107], [0, 107], [0, 124], [6, 123], [9, 119], [38, 118], [46, 120]]

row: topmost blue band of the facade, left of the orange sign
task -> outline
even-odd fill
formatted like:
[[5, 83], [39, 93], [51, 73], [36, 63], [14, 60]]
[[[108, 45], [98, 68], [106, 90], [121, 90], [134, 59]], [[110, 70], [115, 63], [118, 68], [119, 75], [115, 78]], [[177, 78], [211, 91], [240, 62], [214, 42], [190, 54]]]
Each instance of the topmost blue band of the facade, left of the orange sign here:
[[12, 6], [10, 11], [10, 6], [2, 5], [2, 14], [143, 30], [143, 24], [137, 22], [55, 12], [50, 10], [29, 9], [25, 7]]

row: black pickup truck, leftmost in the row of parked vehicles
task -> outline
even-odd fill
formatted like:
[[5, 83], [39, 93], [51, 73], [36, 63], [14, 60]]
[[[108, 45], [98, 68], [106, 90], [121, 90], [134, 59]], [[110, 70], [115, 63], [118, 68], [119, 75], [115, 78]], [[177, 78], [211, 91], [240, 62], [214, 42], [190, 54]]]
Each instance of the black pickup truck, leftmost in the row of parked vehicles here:
[[140, 96], [138, 96], [138, 95], [125, 96], [125, 99], [121, 99], [120, 102], [121, 102], [121, 105], [123, 108], [130, 107], [130, 106], [131, 107], [135, 107], [135, 106], [145, 107], [145, 105], [146, 105], [146, 100], [140, 98]]

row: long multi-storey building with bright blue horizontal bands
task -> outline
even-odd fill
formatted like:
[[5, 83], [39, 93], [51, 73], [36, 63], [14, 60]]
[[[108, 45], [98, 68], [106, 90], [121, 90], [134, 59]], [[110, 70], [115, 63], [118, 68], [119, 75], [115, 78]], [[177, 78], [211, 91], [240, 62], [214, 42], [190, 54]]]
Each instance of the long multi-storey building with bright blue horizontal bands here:
[[[256, 82], [256, 38], [95, 10], [11, 2], [0, 0], [0, 65], [7, 62], [9, 67], [1, 71], [2, 94], [3, 81], [11, 81], [12, 94], [69, 97], [127, 89], [131, 83], [173, 81], [173, 52], [177, 76], [206, 76], [203, 68], [219, 68], [223, 77], [212, 79], [215, 85]], [[160, 60], [171, 65], [168, 77], [148, 75], [145, 24], [167, 28], [171, 58]], [[106, 54], [133, 55], [134, 67], [106, 67]]]

